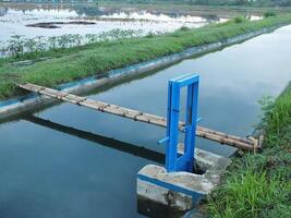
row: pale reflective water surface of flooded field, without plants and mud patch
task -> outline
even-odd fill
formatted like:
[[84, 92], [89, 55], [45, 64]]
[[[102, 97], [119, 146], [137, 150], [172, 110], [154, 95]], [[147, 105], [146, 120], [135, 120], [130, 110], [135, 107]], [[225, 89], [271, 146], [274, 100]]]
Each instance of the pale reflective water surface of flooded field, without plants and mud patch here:
[[[86, 24], [70, 24], [72, 21], [94, 22]], [[14, 35], [23, 35], [26, 38], [38, 36], [61, 36], [64, 34], [100, 34], [112, 29], [141, 31], [142, 35], [148, 33], [173, 32], [182, 26], [201, 27], [210, 22], [223, 22], [226, 19], [216, 16], [193, 16], [180, 14], [150, 13], [147, 11], [111, 11], [96, 7], [92, 9], [14, 9], [0, 4], [0, 40], [2, 43]], [[63, 22], [58, 27], [32, 27], [35, 23]], [[76, 22], [75, 22], [76, 23]]]

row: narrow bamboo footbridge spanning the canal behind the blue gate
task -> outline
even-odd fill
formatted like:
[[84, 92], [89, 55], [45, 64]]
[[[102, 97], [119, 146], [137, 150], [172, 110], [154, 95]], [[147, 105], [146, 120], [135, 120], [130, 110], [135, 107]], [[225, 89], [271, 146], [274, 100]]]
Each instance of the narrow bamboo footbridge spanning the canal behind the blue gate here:
[[[19, 84], [19, 87], [37, 93], [44, 96], [48, 96], [61, 101], [71, 102], [77, 106], [83, 106], [97, 110], [100, 112], [111, 113], [114, 116], [124, 117], [134, 121], [149, 123], [153, 125], [158, 125], [167, 128], [167, 119], [156, 114], [150, 114], [146, 112], [141, 112], [138, 110], [133, 110], [130, 108], [120, 107], [117, 105], [102, 102], [99, 100], [87, 99], [85, 97], [76, 96], [66, 92], [61, 92], [31, 83]], [[178, 129], [181, 132], [185, 132], [185, 122], [179, 121]], [[232, 147], [237, 147], [244, 150], [252, 150], [259, 148], [259, 143], [255, 138], [243, 138], [235, 135], [229, 135], [219, 131], [210, 130], [204, 126], [196, 126], [196, 136], [218, 142], [220, 144], [226, 144]]]

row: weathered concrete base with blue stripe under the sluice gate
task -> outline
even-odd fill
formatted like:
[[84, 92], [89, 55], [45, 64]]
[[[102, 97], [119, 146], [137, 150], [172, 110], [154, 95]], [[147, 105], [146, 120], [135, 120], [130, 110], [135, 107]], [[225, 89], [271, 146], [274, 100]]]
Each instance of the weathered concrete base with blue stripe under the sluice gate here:
[[[179, 150], [182, 150], [182, 145]], [[138, 211], [149, 217], [175, 217], [193, 209], [219, 183], [229, 158], [195, 149], [196, 165], [205, 172], [168, 173], [163, 167], [148, 165], [137, 173]]]

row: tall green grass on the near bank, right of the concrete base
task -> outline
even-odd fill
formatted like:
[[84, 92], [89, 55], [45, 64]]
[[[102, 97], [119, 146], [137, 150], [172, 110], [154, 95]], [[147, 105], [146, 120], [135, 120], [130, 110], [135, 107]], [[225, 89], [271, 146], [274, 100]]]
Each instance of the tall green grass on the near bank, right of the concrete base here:
[[234, 160], [208, 198], [209, 217], [291, 217], [291, 84], [275, 102], [263, 106], [263, 152]]

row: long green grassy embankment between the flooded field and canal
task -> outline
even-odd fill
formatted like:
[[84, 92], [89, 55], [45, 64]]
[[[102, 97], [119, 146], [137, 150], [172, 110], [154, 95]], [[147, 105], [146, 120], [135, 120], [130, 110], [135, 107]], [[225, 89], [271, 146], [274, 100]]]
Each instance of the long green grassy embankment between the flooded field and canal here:
[[[157, 57], [182, 51], [192, 46], [223, 40], [229, 37], [291, 23], [291, 14], [278, 15], [262, 21], [237, 19], [223, 24], [202, 28], [182, 28], [171, 34], [143, 38], [96, 43], [86, 46], [25, 53], [0, 59], [0, 99], [19, 95], [15, 82], [31, 82], [45, 86], [95, 75], [111, 69], [125, 66]], [[13, 61], [50, 57], [28, 66], [15, 66]]]

